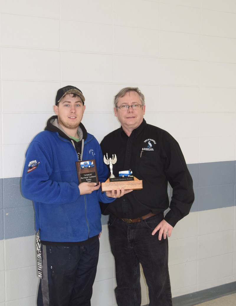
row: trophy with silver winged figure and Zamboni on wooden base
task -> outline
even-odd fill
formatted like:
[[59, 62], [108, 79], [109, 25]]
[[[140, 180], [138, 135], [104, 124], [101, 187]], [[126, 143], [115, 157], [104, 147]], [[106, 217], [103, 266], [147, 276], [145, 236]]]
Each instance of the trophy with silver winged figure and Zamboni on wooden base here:
[[124, 170], [119, 171], [119, 177], [115, 177], [113, 174], [113, 165], [117, 162], [116, 155], [112, 154], [112, 158], [103, 157], [103, 161], [106, 165], [110, 166], [111, 175], [110, 177], [101, 184], [101, 190], [104, 191], [111, 191], [116, 189], [124, 188], [127, 189], [142, 189], [143, 188], [143, 181], [137, 179], [133, 176], [133, 172], [131, 170]]

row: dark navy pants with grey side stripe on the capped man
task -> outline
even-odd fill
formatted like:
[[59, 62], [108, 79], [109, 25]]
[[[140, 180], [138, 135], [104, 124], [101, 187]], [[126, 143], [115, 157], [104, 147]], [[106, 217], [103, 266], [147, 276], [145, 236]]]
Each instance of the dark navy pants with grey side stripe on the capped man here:
[[37, 306], [90, 306], [99, 238], [85, 246], [42, 245]]

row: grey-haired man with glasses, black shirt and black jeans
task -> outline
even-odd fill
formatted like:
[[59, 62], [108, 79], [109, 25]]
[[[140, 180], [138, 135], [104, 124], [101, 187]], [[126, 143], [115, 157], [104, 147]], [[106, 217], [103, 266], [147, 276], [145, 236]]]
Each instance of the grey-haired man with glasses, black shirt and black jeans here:
[[[144, 96], [138, 88], [123, 88], [114, 99], [121, 128], [101, 142], [103, 154], [115, 154], [113, 173], [132, 170], [143, 189], [102, 204], [109, 217], [109, 240], [115, 259], [118, 306], [140, 306], [140, 263], [150, 306], [171, 306], [168, 242], [176, 223], [194, 201], [193, 182], [177, 141], [143, 119]], [[168, 181], [173, 188], [169, 204]], [[170, 208], [164, 217], [164, 211]]]

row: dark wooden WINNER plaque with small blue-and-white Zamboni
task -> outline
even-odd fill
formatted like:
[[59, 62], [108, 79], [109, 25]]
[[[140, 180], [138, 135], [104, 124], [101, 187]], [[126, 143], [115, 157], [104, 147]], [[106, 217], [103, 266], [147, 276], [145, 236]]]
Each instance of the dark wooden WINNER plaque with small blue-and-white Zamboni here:
[[99, 184], [95, 159], [75, 162], [79, 184], [83, 182]]

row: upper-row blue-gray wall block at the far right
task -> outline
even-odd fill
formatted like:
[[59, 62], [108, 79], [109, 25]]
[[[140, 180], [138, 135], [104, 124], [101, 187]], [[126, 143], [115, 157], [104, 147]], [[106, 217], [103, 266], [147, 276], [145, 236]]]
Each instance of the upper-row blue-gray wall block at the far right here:
[[235, 161], [199, 164], [199, 187], [234, 184]]

